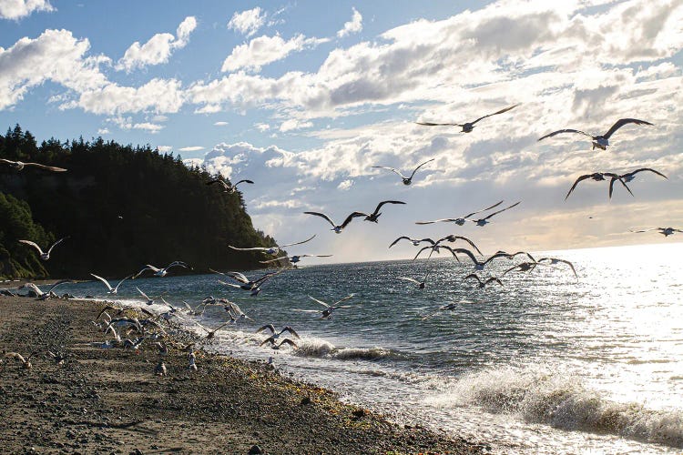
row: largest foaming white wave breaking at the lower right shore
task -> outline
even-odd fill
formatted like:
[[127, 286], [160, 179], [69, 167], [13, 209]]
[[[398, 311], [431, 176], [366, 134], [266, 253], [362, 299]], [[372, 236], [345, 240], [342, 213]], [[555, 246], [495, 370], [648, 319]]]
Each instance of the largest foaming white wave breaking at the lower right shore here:
[[683, 410], [652, 410], [636, 402], [606, 399], [577, 377], [549, 369], [496, 369], [466, 375], [448, 394], [430, 401], [440, 406], [476, 405], [563, 430], [609, 433], [683, 448]]

